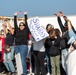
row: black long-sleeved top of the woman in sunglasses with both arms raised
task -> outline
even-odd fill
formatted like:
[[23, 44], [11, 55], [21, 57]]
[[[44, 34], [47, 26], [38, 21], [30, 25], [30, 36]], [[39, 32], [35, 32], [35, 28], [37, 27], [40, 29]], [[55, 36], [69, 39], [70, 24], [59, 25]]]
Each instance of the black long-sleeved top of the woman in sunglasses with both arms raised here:
[[30, 34], [28, 25], [27, 25], [27, 15], [25, 16], [25, 28], [20, 30], [17, 25], [17, 16], [14, 16], [14, 27], [15, 27], [15, 44], [16, 45], [27, 45], [28, 44], [28, 35]]

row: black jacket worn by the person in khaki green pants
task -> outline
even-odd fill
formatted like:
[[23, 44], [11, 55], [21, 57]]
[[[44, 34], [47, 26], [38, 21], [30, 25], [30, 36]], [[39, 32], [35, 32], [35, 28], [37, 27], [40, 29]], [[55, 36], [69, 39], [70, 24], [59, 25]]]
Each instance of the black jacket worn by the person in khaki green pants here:
[[57, 39], [50, 39], [48, 38], [45, 41], [45, 47], [49, 47], [49, 55], [50, 56], [57, 56], [60, 55], [60, 42], [61, 38], [58, 37]]

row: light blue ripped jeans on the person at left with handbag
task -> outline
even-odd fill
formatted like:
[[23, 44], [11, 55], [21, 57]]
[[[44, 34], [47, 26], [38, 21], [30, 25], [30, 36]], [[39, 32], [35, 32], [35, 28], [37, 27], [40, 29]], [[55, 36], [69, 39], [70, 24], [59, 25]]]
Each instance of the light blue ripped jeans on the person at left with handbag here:
[[12, 59], [13, 59], [12, 58], [12, 50], [9, 53], [6, 53], [6, 52], [4, 53], [4, 61], [3, 61], [3, 63], [5, 65], [5, 67], [7, 68], [8, 71], [15, 72], [15, 67], [14, 67], [14, 64], [12, 62]]

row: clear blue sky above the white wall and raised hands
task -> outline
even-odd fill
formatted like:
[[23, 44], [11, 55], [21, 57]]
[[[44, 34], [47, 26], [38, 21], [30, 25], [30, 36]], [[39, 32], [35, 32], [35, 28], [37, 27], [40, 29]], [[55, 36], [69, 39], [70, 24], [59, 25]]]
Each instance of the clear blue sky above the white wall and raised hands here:
[[27, 11], [30, 17], [53, 16], [60, 10], [66, 15], [76, 15], [75, 7], [76, 0], [0, 0], [0, 16], [13, 16], [16, 11]]

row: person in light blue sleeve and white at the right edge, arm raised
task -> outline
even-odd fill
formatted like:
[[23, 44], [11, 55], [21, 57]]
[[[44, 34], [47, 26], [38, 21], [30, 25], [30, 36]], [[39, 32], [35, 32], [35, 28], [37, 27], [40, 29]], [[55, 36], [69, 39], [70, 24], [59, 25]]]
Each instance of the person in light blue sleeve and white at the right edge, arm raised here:
[[68, 49], [68, 57], [66, 61], [67, 75], [75, 75], [76, 70], [76, 33], [72, 29], [71, 21], [68, 19], [68, 34], [70, 47]]

